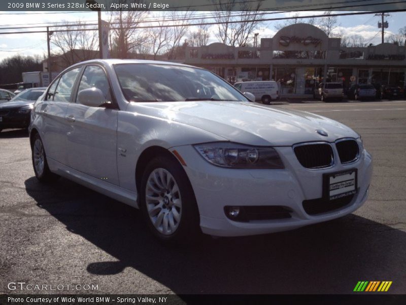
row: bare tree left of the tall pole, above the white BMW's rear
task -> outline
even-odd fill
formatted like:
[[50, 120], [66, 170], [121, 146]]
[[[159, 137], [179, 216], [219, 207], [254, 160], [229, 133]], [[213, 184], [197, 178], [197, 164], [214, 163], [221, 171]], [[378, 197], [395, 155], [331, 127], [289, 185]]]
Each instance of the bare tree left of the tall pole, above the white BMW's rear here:
[[85, 31], [86, 23], [82, 21], [64, 29], [67, 31], [54, 32], [51, 37], [51, 43], [56, 47], [56, 52], [62, 57], [64, 64], [71, 66], [78, 61], [93, 59], [94, 50], [98, 49], [97, 31]]

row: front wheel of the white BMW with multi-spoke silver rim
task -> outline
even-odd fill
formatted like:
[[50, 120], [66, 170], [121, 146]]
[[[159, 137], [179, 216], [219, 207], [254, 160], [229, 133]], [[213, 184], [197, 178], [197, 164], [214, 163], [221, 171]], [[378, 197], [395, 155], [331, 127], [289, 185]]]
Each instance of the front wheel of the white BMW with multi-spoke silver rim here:
[[192, 186], [175, 158], [159, 156], [148, 163], [140, 209], [152, 234], [164, 243], [192, 243], [201, 232]]

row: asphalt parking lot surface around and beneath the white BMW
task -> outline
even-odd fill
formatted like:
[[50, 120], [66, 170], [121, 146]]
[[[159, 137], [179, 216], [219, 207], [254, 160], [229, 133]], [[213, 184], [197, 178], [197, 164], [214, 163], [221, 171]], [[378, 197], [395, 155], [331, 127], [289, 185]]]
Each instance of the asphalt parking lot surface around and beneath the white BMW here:
[[[369, 199], [354, 214], [294, 231], [156, 242], [141, 214], [60, 179], [34, 177], [28, 135], [0, 133], [0, 293], [352, 293], [393, 281], [406, 293], [406, 102], [289, 103], [361, 134], [374, 158]], [[8, 283], [97, 285], [94, 290], [9, 290]], [[49, 286], [48, 286], [49, 287]]]

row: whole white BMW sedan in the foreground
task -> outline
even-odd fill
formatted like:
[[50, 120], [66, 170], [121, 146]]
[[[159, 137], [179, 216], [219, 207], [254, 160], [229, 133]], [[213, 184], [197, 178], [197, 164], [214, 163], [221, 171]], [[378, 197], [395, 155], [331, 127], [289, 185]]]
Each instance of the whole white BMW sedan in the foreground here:
[[248, 98], [186, 65], [76, 64], [33, 107], [35, 174], [139, 207], [155, 236], [175, 242], [294, 229], [365, 202], [372, 160], [356, 132]]

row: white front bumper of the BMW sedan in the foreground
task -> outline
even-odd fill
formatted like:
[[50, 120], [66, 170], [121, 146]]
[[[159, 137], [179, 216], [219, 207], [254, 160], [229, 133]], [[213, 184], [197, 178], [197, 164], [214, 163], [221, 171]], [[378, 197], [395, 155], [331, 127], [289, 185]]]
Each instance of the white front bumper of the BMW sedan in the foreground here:
[[[302, 226], [340, 218], [358, 209], [366, 200], [372, 175], [371, 156], [363, 150], [358, 161], [335, 164], [334, 167], [310, 170], [297, 161], [292, 147], [275, 147], [285, 169], [226, 169], [204, 160], [192, 146], [177, 150], [187, 166], [200, 214], [201, 230], [215, 236], [242, 236], [291, 230]], [[322, 197], [323, 173], [358, 170], [358, 192], [342, 208], [309, 215], [303, 201]], [[326, 203], [328, 204], [328, 203]], [[278, 205], [292, 210], [291, 218], [237, 222], [225, 216], [224, 206]]]

